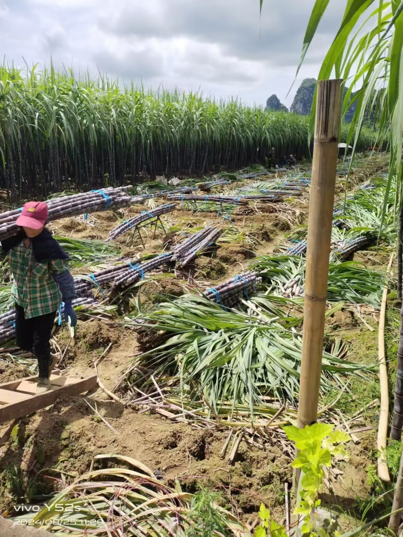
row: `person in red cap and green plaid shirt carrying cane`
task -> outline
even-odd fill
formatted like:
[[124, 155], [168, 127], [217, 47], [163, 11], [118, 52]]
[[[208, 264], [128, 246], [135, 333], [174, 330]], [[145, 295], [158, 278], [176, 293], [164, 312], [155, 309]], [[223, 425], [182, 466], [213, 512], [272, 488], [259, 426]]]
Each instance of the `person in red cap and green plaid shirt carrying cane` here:
[[36, 393], [51, 389], [49, 377], [57, 354], [51, 354], [55, 316], [64, 302], [64, 319], [76, 326], [71, 304], [76, 298], [69, 256], [46, 229], [48, 207], [39, 201], [26, 203], [16, 224], [19, 233], [1, 241], [13, 277], [11, 297], [16, 308], [16, 344], [38, 359]]

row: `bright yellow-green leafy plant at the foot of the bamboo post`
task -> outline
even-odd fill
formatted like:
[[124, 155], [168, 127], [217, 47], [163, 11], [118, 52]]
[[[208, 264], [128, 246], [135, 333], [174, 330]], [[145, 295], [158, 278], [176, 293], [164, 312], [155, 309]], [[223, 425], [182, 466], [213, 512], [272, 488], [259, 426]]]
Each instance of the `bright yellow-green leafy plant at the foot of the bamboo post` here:
[[[310, 537], [329, 537], [325, 528], [317, 524], [317, 509], [320, 505], [319, 492], [322, 491], [325, 480], [325, 467], [332, 466], [332, 458], [341, 455], [348, 459], [344, 444], [350, 440], [343, 431], [333, 431], [332, 425], [315, 423], [305, 429], [287, 426], [283, 427], [289, 440], [295, 442], [299, 450], [298, 456], [292, 462], [293, 468], [300, 468], [299, 502], [294, 511], [302, 519], [300, 534]], [[259, 511], [262, 521], [257, 527], [255, 537], [284, 537], [284, 528], [270, 519], [270, 511], [262, 504]], [[333, 533], [337, 537], [337, 532]]]

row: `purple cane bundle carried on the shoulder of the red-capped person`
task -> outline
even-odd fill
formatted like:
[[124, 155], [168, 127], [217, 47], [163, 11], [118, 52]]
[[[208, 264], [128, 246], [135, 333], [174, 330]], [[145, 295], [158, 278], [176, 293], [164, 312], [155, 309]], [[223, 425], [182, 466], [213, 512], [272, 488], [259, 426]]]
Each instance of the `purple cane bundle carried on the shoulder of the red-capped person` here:
[[[105, 209], [128, 207], [133, 203], [133, 197], [127, 193], [131, 188], [130, 185], [119, 188], [103, 188], [102, 190], [47, 200], [48, 221]], [[19, 209], [0, 214], [0, 241], [18, 233], [19, 228], [16, 226], [16, 220], [20, 214]]]

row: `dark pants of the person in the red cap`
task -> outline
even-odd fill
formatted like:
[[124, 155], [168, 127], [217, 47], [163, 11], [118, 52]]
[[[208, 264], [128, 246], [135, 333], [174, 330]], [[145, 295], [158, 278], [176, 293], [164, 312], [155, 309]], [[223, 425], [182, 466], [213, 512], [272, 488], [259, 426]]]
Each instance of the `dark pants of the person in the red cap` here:
[[51, 365], [52, 328], [56, 311], [26, 319], [24, 308], [16, 304], [16, 344], [23, 351], [32, 352], [38, 358], [39, 378], [49, 378]]

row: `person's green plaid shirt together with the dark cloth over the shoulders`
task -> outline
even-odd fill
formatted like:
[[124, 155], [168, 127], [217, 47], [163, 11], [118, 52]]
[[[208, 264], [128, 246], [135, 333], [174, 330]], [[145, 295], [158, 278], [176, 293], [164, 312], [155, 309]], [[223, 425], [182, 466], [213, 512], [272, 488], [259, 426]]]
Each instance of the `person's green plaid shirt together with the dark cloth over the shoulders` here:
[[[7, 252], [13, 275], [11, 297], [24, 308], [25, 318], [29, 319], [59, 308], [62, 294], [52, 276], [69, 270], [69, 257], [47, 229], [34, 240], [31, 239], [28, 246], [24, 238], [22, 236], [20, 242], [11, 248], [8, 241], [2, 241], [2, 249]], [[49, 241], [50, 238], [52, 241]], [[45, 258], [38, 259], [38, 255]]]

